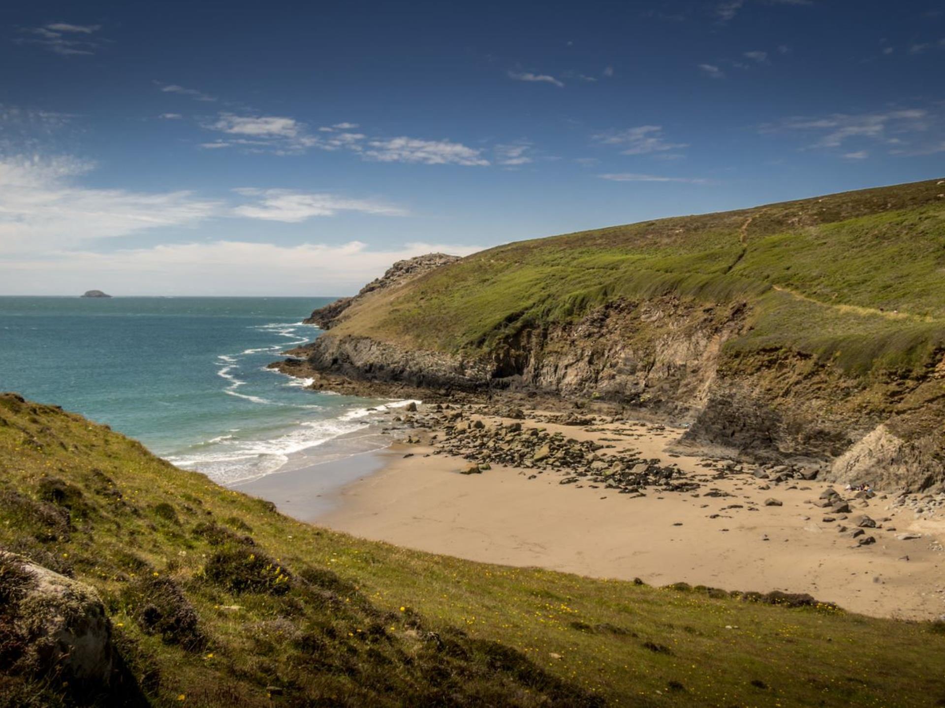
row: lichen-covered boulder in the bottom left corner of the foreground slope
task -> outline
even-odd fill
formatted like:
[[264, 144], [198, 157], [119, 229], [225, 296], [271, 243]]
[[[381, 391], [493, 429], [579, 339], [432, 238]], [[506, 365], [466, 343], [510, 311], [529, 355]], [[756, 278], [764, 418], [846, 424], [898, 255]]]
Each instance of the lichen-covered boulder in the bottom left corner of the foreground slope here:
[[94, 588], [0, 551], [0, 663], [89, 697], [120, 681], [112, 625]]

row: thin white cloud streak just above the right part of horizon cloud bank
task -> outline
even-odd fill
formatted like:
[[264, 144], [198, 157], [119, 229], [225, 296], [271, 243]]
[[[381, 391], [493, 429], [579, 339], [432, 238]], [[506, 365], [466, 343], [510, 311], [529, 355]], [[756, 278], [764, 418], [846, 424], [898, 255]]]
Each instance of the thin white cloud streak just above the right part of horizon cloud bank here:
[[384, 202], [369, 199], [350, 199], [335, 194], [312, 194], [281, 189], [244, 187], [233, 190], [236, 194], [254, 197], [251, 204], [243, 204], [233, 213], [249, 219], [281, 221], [298, 224], [313, 216], [334, 216], [338, 211], [359, 211], [383, 216], [405, 216], [406, 211]]

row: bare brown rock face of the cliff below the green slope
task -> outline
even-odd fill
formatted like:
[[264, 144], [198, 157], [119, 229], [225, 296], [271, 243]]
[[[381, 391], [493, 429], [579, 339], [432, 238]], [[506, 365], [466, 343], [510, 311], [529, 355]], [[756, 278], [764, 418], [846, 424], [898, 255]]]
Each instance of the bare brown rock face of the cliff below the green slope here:
[[[519, 391], [608, 401], [689, 426], [683, 447], [829, 469], [844, 482], [913, 491], [945, 482], [935, 414], [945, 407], [945, 364], [926, 379], [864, 382], [794, 352], [726, 350], [751, 327], [751, 315], [744, 303], [662, 296], [520, 329], [475, 357], [335, 332], [300, 353], [311, 370], [330, 376], [441, 395]], [[874, 433], [884, 424], [888, 430]]]

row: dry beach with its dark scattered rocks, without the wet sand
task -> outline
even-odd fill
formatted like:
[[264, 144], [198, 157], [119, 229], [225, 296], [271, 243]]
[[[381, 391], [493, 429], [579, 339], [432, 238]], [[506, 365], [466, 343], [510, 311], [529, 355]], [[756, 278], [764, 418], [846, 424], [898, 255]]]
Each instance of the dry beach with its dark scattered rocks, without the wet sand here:
[[[945, 494], [848, 489], [814, 467], [680, 449], [685, 429], [503, 396], [384, 419], [387, 466], [317, 523], [471, 560], [945, 614]], [[871, 585], [847, 587], [863, 573]]]

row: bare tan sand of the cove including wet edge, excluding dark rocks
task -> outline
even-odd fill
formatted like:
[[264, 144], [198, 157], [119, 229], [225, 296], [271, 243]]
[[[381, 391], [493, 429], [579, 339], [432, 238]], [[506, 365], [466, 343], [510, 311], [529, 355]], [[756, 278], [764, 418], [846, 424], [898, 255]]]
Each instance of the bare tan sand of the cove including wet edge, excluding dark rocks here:
[[[469, 463], [438, 451], [443, 430], [432, 427], [408, 429], [411, 444], [273, 475], [243, 491], [338, 531], [475, 561], [658, 585], [808, 593], [866, 615], [945, 614], [941, 514], [917, 518], [911, 508], [893, 506], [895, 495], [857, 499], [842, 488], [851, 512], [832, 514], [813, 503], [831, 486], [821, 481], [717, 479], [712, 461], [667, 450], [682, 430], [628, 422], [556, 426], [546, 415], [528, 415], [519, 421], [525, 430], [609, 441], [613, 453], [632, 448], [678, 464], [684, 480], [703, 486], [636, 497], [583, 480], [562, 485], [560, 472], [492, 465], [460, 474]], [[610, 442], [614, 430], [623, 430], [619, 444]], [[339, 475], [349, 481], [339, 486]], [[326, 486], [329, 478], [335, 483]], [[707, 496], [709, 490], [727, 496]], [[768, 499], [780, 505], [765, 505]], [[861, 538], [875, 539], [865, 546], [851, 537], [862, 514], [876, 522], [863, 530]]]

